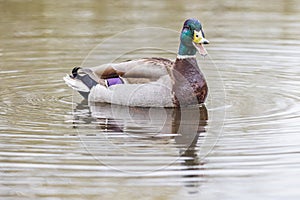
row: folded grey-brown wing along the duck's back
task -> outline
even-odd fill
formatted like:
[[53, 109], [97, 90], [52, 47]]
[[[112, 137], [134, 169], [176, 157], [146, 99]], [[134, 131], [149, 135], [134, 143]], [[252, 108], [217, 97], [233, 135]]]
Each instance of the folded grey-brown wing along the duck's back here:
[[99, 79], [115, 76], [124, 78], [158, 79], [168, 74], [174, 62], [165, 58], [143, 58], [121, 63], [109, 63], [90, 68]]

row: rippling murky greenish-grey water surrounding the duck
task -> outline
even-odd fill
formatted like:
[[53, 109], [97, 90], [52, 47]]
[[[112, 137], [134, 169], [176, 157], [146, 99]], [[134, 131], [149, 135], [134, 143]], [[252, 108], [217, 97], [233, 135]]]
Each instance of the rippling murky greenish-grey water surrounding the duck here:
[[[0, 1], [1, 199], [298, 199], [299, 13], [292, 0]], [[211, 42], [206, 107], [88, 105], [63, 83], [112, 35], [189, 17]], [[153, 54], [172, 56], [123, 57]]]

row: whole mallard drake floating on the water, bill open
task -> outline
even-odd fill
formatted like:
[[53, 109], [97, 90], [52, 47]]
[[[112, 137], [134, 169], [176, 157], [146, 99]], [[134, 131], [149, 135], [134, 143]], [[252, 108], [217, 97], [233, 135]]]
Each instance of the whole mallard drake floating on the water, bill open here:
[[180, 107], [204, 103], [208, 87], [196, 52], [207, 55], [202, 25], [184, 22], [175, 61], [143, 58], [93, 68], [75, 67], [66, 84], [92, 102], [138, 107]]

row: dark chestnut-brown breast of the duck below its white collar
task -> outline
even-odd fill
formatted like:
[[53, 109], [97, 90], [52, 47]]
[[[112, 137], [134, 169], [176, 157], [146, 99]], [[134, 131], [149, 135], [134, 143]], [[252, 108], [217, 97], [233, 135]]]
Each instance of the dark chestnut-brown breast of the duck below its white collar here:
[[196, 58], [176, 59], [171, 71], [173, 102], [176, 106], [204, 103], [208, 88]]

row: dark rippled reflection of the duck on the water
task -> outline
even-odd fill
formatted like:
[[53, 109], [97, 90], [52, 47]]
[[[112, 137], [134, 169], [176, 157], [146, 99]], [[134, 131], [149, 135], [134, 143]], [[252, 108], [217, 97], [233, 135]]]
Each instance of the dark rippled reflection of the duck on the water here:
[[[74, 114], [74, 128], [92, 124], [92, 129], [99, 134], [109, 137], [110, 134], [118, 133], [126, 138], [122, 141], [122, 137], [118, 137], [117, 142], [113, 141], [115, 145], [134, 144], [141, 152], [141, 148], [147, 148], [145, 144], [148, 141], [152, 142], [151, 145], [159, 144], [161, 147], [161, 144], [166, 144], [165, 148], [177, 149], [175, 156], [180, 158], [177, 160], [182, 166], [180, 169], [185, 171], [182, 174], [185, 186], [199, 187], [203, 165], [199, 156], [200, 144], [204, 139], [208, 120], [205, 105], [188, 108], [136, 108], [82, 102], [74, 109]], [[147, 156], [147, 152], [151, 155], [151, 151], [145, 152], [143, 155]], [[164, 154], [162, 149], [156, 149], [157, 152]]]

